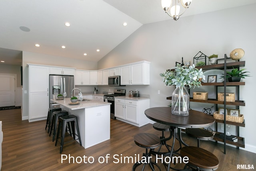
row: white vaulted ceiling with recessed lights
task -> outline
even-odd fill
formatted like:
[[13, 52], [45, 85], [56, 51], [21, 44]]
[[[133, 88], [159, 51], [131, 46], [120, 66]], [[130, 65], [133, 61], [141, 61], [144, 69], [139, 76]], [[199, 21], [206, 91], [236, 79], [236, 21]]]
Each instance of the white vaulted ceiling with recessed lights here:
[[[253, 3], [193, 0], [182, 17]], [[0, 0], [0, 16], [0, 61], [8, 64], [20, 63], [20, 51], [99, 61], [143, 24], [182, 20], [167, 16], [160, 0]]]

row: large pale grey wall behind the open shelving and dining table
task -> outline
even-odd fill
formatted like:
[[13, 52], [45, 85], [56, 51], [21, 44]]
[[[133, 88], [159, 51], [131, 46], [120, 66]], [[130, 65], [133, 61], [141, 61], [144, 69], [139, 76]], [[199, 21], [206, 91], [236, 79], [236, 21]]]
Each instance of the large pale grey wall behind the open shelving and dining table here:
[[[218, 54], [220, 58], [228, 56], [233, 49], [245, 51], [240, 61], [246, 61], [246, 70], [256, 75], [255, 38], [256, 4], [220, 10], [195, 16], [181, 17], [146, 24], [120, 43], [114, 50], [98, 62], [98, 69], [114, 67], [136, 61], [150, 61], [150, 85], [126, 86], [126, 90], [138, 89], [142, 94], [150, 94], [150, 107], [167, 106], [174, 87], [164, 86], [160, 73], [174, 67], [175, 61], [193, 61], [193, 57], [202, 51], [210, 56]], [[240, 136], [245, 138], [245, 150], [256, 153], [254, 125], [254, 88], [255, 78], [245, 79], [246, 85], [240, 86], [240, 99], [246, 106], [240, 107], [244, 114], [245, 128], [240, 127]], [[122, 88], [122, 87], [121, 87]], [[160, 90], [160, 94], [157, 94]], [[202, 107], [203, 108], [203, 107]], [[244, 148], [241, 148], [244, 149]]]

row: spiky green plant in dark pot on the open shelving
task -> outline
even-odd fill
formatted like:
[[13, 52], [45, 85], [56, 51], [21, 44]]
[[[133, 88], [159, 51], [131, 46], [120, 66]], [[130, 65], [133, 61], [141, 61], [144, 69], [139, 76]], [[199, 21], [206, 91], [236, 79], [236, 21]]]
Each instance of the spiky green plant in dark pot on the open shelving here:
[[[231, 72], [226, 72], [226, 79], [228, 79], [229, 82], [240, 82], [241, 78], [250, 77], [250, 75], [245, 73], [250, 73], [248, 71], [243, 72], [245, 69], [238, 70], [237, 68], [232, 69]], [[224, 79], [224, 74], [221, 79]]]

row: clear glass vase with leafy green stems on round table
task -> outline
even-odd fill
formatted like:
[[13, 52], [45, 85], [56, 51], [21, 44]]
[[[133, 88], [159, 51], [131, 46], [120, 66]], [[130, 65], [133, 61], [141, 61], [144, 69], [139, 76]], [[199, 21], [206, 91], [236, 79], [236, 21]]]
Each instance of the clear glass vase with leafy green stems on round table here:
[[189, 114], [189, 93], [185, 86], [200, 86], [200, 78], [205, 79], [202, 69], [198, 70], [195, 65], [186, 67], [177, 64], [172, 70], [160, 74], [165, 85], [175, 85], [172, 93], [172, 114], [188, 116]]

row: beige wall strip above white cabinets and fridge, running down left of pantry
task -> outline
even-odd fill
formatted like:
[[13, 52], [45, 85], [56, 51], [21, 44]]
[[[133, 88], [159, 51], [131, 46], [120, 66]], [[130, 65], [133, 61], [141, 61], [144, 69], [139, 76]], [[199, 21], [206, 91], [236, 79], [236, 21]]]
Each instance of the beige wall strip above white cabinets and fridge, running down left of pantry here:
[[24, 90], [28, 90], [28, 67], [27, 67], [28, 63], [72, 67], [76, 69], [88, 69], [88, 70], [97, 69], [96, 62], [23, 51], [22, 53], [22, 66], [23, 66], [22, 120], [28, 119], [28, 94], [24, 94]]

